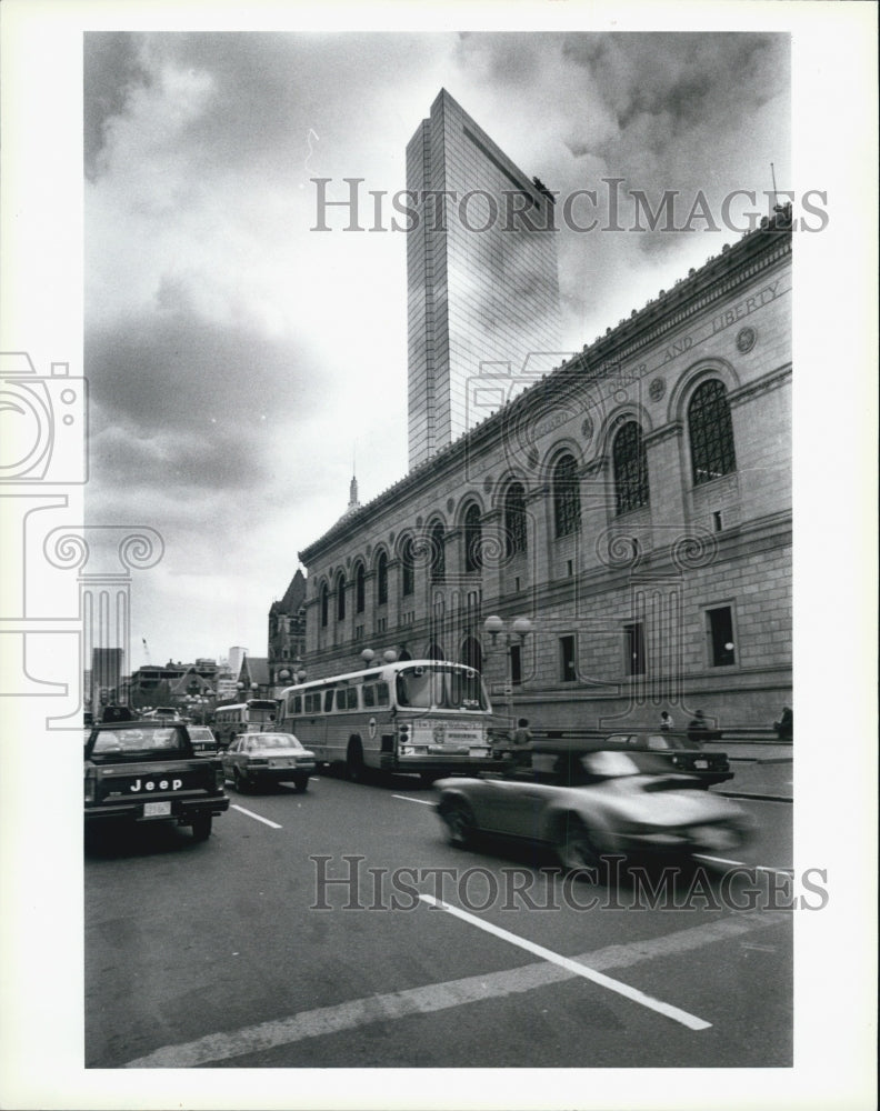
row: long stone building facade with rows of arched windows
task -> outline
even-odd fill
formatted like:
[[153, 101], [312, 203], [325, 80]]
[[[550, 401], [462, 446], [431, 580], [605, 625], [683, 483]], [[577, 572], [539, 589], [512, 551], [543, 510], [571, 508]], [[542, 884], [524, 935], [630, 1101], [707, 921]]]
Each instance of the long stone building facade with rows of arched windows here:
[[791, 700], [791, 246], [779, 210], [300, 552], [309, 678], [393, 650], [481, 668], [537, 728], [769, 727]]

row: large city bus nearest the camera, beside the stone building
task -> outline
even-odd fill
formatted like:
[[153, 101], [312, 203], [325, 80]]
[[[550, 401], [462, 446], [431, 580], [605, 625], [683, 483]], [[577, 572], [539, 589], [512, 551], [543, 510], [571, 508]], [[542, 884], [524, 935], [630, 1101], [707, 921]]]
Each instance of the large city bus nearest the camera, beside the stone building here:
[[502, 767], [498, 724], [478, 671], [463, 663], [399, 660], [288, 687], [279, 725], [317, 759], [359, 780], [366, 768], [417, 772], [426, 782]]

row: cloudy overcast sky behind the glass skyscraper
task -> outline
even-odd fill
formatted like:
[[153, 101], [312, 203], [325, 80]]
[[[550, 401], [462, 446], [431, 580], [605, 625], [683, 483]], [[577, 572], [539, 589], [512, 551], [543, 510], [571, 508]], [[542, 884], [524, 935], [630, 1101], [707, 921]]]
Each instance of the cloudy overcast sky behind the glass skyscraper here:
[[[562, 198], [790, 189], [787, 34], [89, 33], [89, 523], [158, 529], [132, 668], [267, 652], [297, 553], [407, 470], [406, 234], [317, 224], [311, 178], [406, 187], [441, 88]], [[383, 223], [393, 214], [386, 199]], [[561, 203], [561, 201], [560, 201]], [[740, 201], [732, 216], [752, 207]], [[559, 203], [558, 203], [559, 210]], [[587, 222], [591, 214], [576, 209]], [[603, 221], [604, 222], [604, 221]], [[744, 224], [743, 224], [744, 226]], [[559, 233], [563, 349], [737, 231]]]

